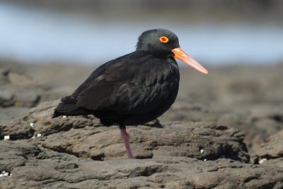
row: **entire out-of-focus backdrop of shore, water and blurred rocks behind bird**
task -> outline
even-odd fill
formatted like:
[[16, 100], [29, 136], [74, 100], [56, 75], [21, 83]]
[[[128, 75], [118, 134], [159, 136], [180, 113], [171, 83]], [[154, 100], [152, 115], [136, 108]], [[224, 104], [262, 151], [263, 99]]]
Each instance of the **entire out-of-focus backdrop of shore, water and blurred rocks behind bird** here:
[[179, 62], [178, 98], [162, 117], [236, 127], [256, 151], [283, 129], [282, 10], [282, 0], [2, 0], [0, 124], [166, 28], [209, 74]]

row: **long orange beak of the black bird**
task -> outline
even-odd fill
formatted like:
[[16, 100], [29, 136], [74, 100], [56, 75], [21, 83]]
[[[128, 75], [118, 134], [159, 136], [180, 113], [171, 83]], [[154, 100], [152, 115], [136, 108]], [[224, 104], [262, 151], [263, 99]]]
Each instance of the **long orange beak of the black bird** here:
[[187, 53], [185, 53], [185, 51], [183, 51], [180, 47], [173, 49], [172, 52], [175, 55], [174, 58], [182, 60], [190, 67], [197, 69], [197, 71], [200, 71], [204, 74], [208, 74], [208, 71], [204, 69], [201, 64], [199, 64], [197, 61], [195, 61], [195, 59], [190, 57], [190, 55], [187, 55]]

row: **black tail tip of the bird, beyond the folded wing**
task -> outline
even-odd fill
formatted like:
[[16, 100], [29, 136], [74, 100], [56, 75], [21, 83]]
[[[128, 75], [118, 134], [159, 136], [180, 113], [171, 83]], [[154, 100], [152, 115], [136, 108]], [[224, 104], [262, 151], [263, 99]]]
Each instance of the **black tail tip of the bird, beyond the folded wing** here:
[[52, 118], [57, 118], [61, 115], [88, 115], [88, 111], [85, 108], [78, 107], [76, 105], [76, 98], [74, 96], [66, 96], [61, 99], [61, 103], [57, 105], [52, 114]]

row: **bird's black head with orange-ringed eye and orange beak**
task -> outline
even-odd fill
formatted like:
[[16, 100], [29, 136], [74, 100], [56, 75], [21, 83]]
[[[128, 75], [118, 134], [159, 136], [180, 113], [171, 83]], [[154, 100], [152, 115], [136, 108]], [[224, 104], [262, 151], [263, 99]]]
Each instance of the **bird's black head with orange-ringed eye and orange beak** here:
[[197, 69], [197, 71], [204, 74], [208, 73], [202, 65], [180, 48], [177, 35], [170, 30], [154, 29], [144, 31], [139, 36], [137, 50], [147, 50], [157, 57], [175, 57], [190, 67]]

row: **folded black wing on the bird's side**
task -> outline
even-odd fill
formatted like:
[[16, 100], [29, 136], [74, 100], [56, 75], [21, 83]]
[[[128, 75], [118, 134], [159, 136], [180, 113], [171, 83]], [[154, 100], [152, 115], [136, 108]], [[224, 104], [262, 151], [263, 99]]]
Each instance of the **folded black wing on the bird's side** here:
[[[90, 110], [142, 114], [158, 108], [170, 94], [160, 59], [137, 51], [103, 64], [76, 89], [76, 105]], [[158, 64], [160, 63], [160, 64]], [[168, 75], [169, 73], [167, 73]], [[162, 98], [162, 96], [164, 98]]]

